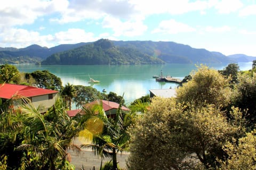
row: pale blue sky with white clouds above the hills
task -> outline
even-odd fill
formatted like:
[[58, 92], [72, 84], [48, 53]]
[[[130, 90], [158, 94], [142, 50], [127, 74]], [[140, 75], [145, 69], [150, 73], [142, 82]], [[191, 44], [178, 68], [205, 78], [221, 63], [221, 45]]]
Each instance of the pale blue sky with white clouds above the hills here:
[[173, 41], [256, 56], [256, 0], [2, 0], [0, 47]]

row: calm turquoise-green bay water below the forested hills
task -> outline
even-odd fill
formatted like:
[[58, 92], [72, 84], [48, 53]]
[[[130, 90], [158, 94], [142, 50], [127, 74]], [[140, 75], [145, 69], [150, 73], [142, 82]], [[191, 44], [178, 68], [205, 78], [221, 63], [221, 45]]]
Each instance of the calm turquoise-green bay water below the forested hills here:
[[[238, 63], [240, 70], [250, 70], [252, 63]], [[175, 88], [175, 83], [156, 82], [153, 75], [163, 75], [183, 79], [196, 69], [195, 64], [164, 64], [164, 65], [15, 65], [20, 72], [33, 72], [36, 70], [49, 70], [61, 78], [62, 85], [68, 82], [73, 85], [92, 86], [102, 91], [115, 92], [123, 95], [125, 103], [149, 94], [149, 89]], [[211, 68], [222, 70], [227, 65], [208, 65]], [[89, 84], [89, 79], [99, 80], [98, 84]]]

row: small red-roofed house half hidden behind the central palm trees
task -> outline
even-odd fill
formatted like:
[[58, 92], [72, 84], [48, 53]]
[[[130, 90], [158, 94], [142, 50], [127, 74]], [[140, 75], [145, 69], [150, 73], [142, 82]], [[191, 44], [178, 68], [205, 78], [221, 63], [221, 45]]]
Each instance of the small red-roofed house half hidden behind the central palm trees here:
[[[85, 107], [91, 107], [93, 105], [98, 105], [98, 104], [101, 104], [101, 102], [102, 102], [102, 108], [105, 111], [105, 114], [107, 115], [107, 117], [115, 117], [117, 109], [119, 107], [119, 104], [115, 103], [113, 101], [94, 100], [90, 103], [85, 104]], [[122, 111], [130, 111], [129, 108], [124, 107], [124, 106], [122, 106], [121, 109], [122, 109]], [[67, 113], [70, 117], [73, 117], [81, 111], [82, 111], [81, 109], [76, 109], [76, 110], [73, 110], [73, 111], [67, 111]]]

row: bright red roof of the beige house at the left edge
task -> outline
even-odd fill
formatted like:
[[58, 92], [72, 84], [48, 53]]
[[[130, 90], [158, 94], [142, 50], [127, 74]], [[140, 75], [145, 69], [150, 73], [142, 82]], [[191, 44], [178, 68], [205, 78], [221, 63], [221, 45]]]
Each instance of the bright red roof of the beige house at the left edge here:
[[55, 94], [59, 91], [24, 86], [18, 84], [0, 84], [0, 98], [10, 99], [13, 96], [34, 97]]

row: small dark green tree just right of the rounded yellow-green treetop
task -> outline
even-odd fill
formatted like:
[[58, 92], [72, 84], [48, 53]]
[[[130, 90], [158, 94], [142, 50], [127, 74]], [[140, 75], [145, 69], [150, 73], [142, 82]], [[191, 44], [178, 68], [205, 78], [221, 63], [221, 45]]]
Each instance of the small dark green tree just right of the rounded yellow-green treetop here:
[[233, 64], [228, 64], [228, 66], [225, 69], [221, 70], [220, 73], [222, 75], [224, 75], [226, 78], [228, 78], [230, 76], [231, 83], [237, 83], [238, 82], [238, 80], [237, 80], [238, 71], [239, 71], [238, 64], [233, 63]]

